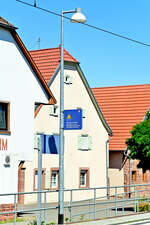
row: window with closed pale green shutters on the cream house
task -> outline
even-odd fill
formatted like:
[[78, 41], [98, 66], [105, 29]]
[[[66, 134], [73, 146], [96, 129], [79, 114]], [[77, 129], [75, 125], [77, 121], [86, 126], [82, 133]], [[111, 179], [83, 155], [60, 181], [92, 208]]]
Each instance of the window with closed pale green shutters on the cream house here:
[[92, 149], [92, 137], [88, 134], [82, 134], [78, 136], [78, 149], [79, 150], [91, 150]]

